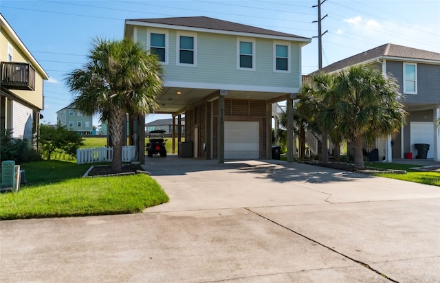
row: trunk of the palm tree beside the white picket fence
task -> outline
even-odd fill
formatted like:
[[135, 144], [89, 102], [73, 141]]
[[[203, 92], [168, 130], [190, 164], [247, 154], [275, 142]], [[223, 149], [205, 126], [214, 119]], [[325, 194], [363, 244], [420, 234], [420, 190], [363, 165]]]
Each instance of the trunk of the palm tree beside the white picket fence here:
[[124, 131], [125, 112], [120, 109], [113, 109], [109, 115], [109, 135], [113, 144], [113, 161], [111, 170], [120, 172], [122, 169], [122, 138]]

